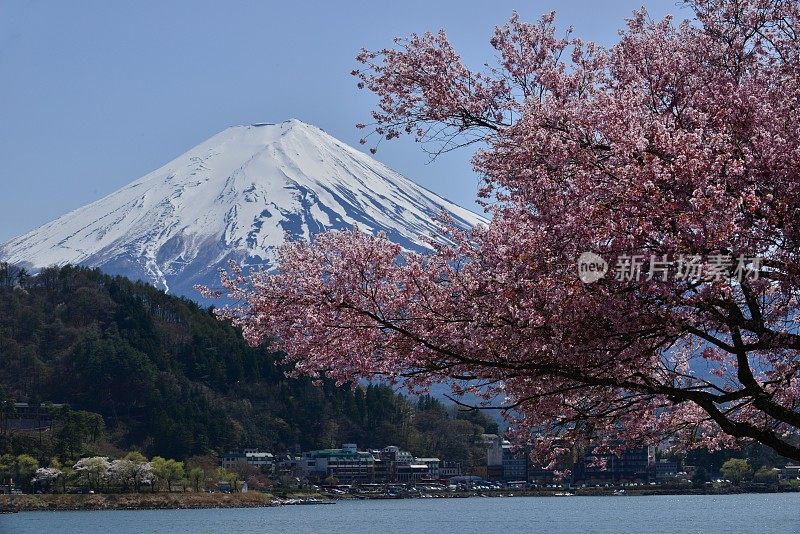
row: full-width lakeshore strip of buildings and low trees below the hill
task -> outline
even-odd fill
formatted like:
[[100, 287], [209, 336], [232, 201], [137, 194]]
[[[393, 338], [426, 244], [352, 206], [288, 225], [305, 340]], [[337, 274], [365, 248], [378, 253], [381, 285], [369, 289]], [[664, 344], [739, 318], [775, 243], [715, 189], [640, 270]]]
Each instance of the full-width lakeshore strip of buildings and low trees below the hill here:
[[[27, 403], [16, 403], [15, 418], [6, 420], [3, 426], [16, 428], [30, 439], [36, 435], [41, 439], [41, 432], [52, 429], [48, 413]], [[714, 470], [664, 457], [665, 450], [652, 446], [629, 448], [617, 454], [600, 454], [586, 447], [583, 454], [548, 470], [534, 465], [529, 451], [514, 447], [502, 434], [482, 434], [475, 446], [484, 451], [484, 460], [469, 466], [447, 458], [415, 456], [395, 445], [362, 450], [355, 443], [294, 453], [243, 448], [186, 461], [160, 456], [148, 459], [132, 451], [121, 453], [118, 458], [80, 458], [74, 465], [57, 458], [46, 465], [27, 454], [5, 454], [0, 456], [0, 482], [9, 505], [0, 503], [0, 508], [260, 506], [327, 502], [321, 498], [800, 491], [800, 465], [793, 464], [765, 465], [754, 470], [747, 459], [730, 458]], [[226, 503], [209, 495], [247, 493], [254, 498], [268, 497]], [[20, 502], [18, 497], [15, 506], [14, 496], [24, 494], [207, 497], [188, 504], [150, 500], [88, 505], [78, 501]], [[294, 498], [297, 495], [302, 497]]]

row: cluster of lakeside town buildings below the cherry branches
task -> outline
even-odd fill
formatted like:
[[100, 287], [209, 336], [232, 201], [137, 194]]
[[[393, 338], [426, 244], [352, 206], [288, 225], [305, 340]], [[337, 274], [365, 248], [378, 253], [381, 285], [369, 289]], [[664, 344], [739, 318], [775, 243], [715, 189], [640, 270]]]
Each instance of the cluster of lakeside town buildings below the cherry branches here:
[[[637, 447], [597, 455], [587, 453], [569, 466], [568, 475], [536, 467], [524, 450], [515, 450], [502, 435], [483, 434], [486, 465], [465, 472], [459, 462], [443, 458], [415, 457], [390, 445], [383, 449], [359, 450], [355, 443], [337, 449], [303, 452], [300, 455], [274, 455], [258, 449], [231, 451], [221, 457], [221, 465], [239, 473], [270, 473], [284, 483], [298, 487], [311, 485], [332, 494], [384, 497], [422, 495], [440, 490], [484, 492], [491, 490], [555, 490], [568, 496], [570, 489], [614, 488], [622, 494], [637, 487], [697, 485], [698, 469], [669, 459], [656, 460], [655, 447]], [[769, 481], [800, 479], [800, 465], [771, 470]], [[742, 480], [735, 480], [736, 484]], [[766, 479], [761, 482], [767, 482]], [[731, 484], [730, 480], [705, 480], [702, 484]], [[240, 482], [240, 489], [247, 482]], [[564, 491], [561, 491], [564, 490]]]

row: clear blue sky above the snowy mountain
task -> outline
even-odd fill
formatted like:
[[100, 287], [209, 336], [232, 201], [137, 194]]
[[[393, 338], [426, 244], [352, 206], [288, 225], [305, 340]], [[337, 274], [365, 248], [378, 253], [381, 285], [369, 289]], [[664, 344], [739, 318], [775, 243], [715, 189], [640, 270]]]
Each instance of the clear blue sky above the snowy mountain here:
[[[604, 5], [601, 5], [604, 4]], [[374, 98], [357, 51], [445, 28], [468, 65], [491, 61], [513, 10], [613, 43], [641, 6], [671, 1], [178, 2], [0, 0], [0, 242], [96, 200], [235, 124], [295, 117], [358, 146]], [[434, 162], [410, 139], [377, 158], [465, 207], [469, 152]]]

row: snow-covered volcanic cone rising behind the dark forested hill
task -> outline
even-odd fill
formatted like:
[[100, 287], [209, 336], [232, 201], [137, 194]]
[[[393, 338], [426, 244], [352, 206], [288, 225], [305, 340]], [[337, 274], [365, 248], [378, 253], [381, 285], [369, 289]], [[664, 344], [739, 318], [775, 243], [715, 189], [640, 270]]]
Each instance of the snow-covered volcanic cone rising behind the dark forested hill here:
[[288, 232], [310, 239], [358, 224], [422, 250], [444, 208], [483, 219], [315, 126], [235, 126], [131, 184], [0, 245], [0, 259], [38, 269], [99, 267], [197, 297], [229, 259], [270, 267]]

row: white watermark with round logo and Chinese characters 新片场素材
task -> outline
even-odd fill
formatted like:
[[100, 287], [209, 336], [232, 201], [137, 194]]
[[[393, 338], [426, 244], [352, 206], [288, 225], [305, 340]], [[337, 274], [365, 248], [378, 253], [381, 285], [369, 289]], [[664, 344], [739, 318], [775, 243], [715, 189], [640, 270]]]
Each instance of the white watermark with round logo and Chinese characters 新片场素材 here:
[[717, 282], [735, 279], [758, 280], [763, 258], [732, 256], [730, 254], [679, 254], [675, 257], [621, 254], [613, 268], [594, 252], [584, 252], [578, 258], [578, 277], [591, 284], [607, 274], [621, 282], [642, 280], [685, 281], [690, 283]]

